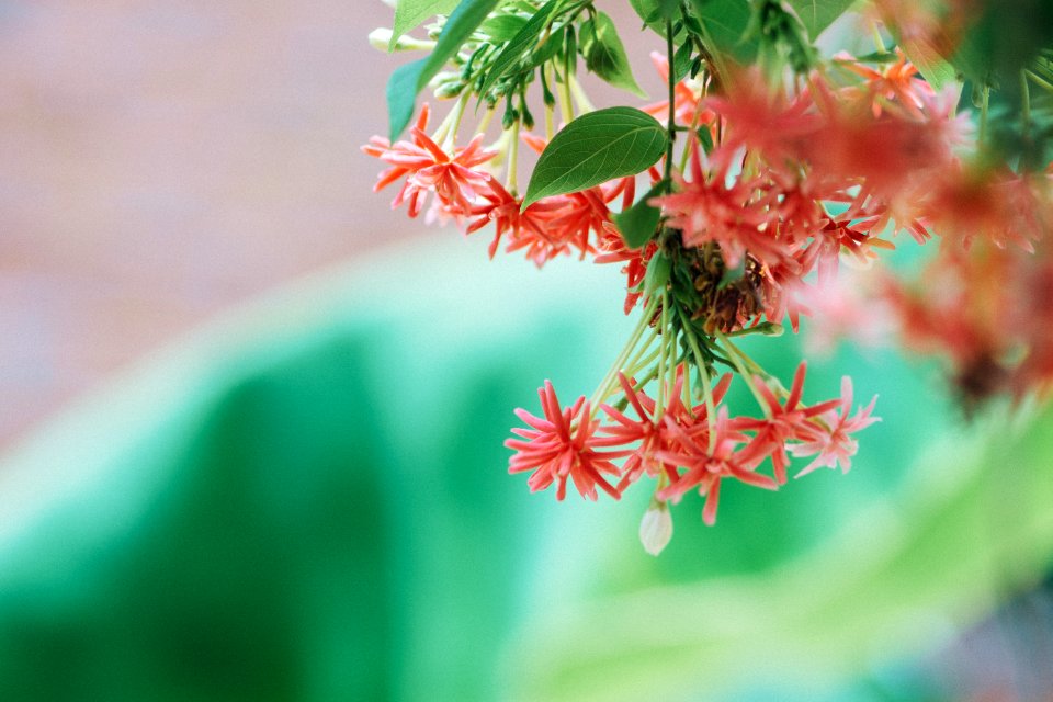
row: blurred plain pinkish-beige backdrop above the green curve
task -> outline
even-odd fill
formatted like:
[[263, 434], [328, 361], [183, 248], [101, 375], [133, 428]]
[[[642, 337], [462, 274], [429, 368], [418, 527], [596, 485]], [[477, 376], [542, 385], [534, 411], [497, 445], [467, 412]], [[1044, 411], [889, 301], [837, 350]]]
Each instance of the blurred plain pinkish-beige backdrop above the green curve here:
[[0, 0], [0, 448], [217, 309], [422, 229], [359, 150], [404, 60], [366, 41], [390, 21], [380, 0]]

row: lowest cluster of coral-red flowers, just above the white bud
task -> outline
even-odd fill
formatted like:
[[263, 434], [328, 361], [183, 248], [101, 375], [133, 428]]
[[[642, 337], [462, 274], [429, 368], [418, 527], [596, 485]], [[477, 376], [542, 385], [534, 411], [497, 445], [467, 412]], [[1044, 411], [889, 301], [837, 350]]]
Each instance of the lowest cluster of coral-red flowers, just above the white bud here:
[[[731, 383], [725, 375], [715, 384], [711, 396], [698, 405], [684, 401], [684, 366], [677, 367], [676, 383], [664, 389], [664, 406], [648, 396], [637, 383], [620, 375], [626, 405], [638, 419], [601, 405], [612, 421], [601, 424], [593, 417], [584, 397], [562, 409], [552, 384], [539, 390], [544, 418], [524, 409], [516, 414], [530, 428], [513, 429], [520, 439], [506, 445], [516, 451], [509, 461], [509, 473], [533, 471], [529, 485], [532, 491], [557, 483], [556, 499], [566, 496], [569, 477], [584, 497], [597, 498], [600, 487], [615, 499], [622, 490], [647, 475], [659, 480], [659, 500], [679, 501], [698, 490], [705, 497], [703, 519], [716, 520], [722, 480], [729, 478], [747, 485], [774, 490], [786, 482], [790, 455], [816, 456], [797, 475], [818, 466], [843, 471], [851, 466], [857, 443], [851, 434], [875, 421], [873, 401], [851, 415], [852, 386], [845, 378], [841, 397], [816, 405], [802, 403], [805, 365], [802, 363], [789, 393], [777, 390], [754, 376], [765, 398], [763, 417], [728, 417], [724, 395]], [[783, 399], [777, 397], [783, 395]], [[876, 399], [876, 398], [875, 398]], [[715, 415], [711, 412], [715, 409]], [[604, 451], [605, 449], [616, 449]], [[771, 458], [773, 476], [758, 468]], [[621, 467], [613, 461], [625, 458]], [[620, 476], [616, 486], [604, 477]]]

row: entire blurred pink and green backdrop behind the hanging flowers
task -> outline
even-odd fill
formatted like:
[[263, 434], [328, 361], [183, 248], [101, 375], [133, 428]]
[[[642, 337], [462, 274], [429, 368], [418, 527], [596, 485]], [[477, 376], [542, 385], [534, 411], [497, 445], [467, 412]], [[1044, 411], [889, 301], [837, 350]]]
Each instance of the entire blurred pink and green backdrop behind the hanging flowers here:
[[812, 397], [881, 395], [852, 473], [714, 529], [684, 500], [658, 559], [646, 495], [503, 475], [511, 407], [605, 369], [620, 281], [370, 192], [389, 18], [0, 0], [0, 697], [1053, 699], [1050, 418], [965, 424], [931, 363], [814, 361]]

